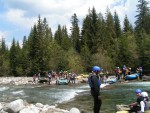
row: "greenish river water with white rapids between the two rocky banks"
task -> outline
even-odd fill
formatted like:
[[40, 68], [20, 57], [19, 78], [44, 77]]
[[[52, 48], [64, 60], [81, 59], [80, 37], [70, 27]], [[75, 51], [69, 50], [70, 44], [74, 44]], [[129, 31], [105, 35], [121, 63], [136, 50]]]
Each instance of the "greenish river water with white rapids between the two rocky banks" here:
[[[150, 95], [150, 82], [128, 82], [112, 84], [101, 90], [101, 113], [115, 113], [116, 104], [129, 104], [136, 100], [134, 90], [140, 88]], [[70, 85], [0, 85], [0, 102], [16, 99], [29, 103], [57, 104], [59, 108], [70, 110], [77, 107], [92, 113], [93, 100], [88, 84]]]

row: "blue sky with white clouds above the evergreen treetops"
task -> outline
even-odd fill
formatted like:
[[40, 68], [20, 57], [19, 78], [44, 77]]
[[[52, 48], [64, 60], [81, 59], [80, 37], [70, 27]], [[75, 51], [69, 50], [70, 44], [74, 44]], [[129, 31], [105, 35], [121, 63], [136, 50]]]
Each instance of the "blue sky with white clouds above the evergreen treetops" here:
[[112, 14], [116, 11], [121, 25], [127, 15], [134, 26], [137, 4], [138, 0], [0, 0], [0, 41], [4, 38], [6, 45], [10, 47], [12, 39], [15, 38], [21, 45], [23, 37], [29, 36], [39, 15], [42, 19], [47, 19], [53, 33], [58, 25], [66, 25], [69, 30], [74, 13], [81, 28], [88, 9], [93, 7], [104, 17], [107, 7]]

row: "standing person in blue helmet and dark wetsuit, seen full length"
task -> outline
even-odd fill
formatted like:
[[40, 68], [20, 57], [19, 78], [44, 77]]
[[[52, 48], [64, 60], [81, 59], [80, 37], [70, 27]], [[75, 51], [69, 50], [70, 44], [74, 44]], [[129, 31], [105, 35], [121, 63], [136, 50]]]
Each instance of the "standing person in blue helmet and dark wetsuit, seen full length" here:
[[100, 78], [99, 78], [99, 72], [100, 67], [94, 66], [93, 67], [93, 73], [89, 75], [88, 81], [91, 88], [91, 95], [93, 96], [94, 100], [94, 113], [99, 113], [101, 108], [101, 98], [100, 98]]

